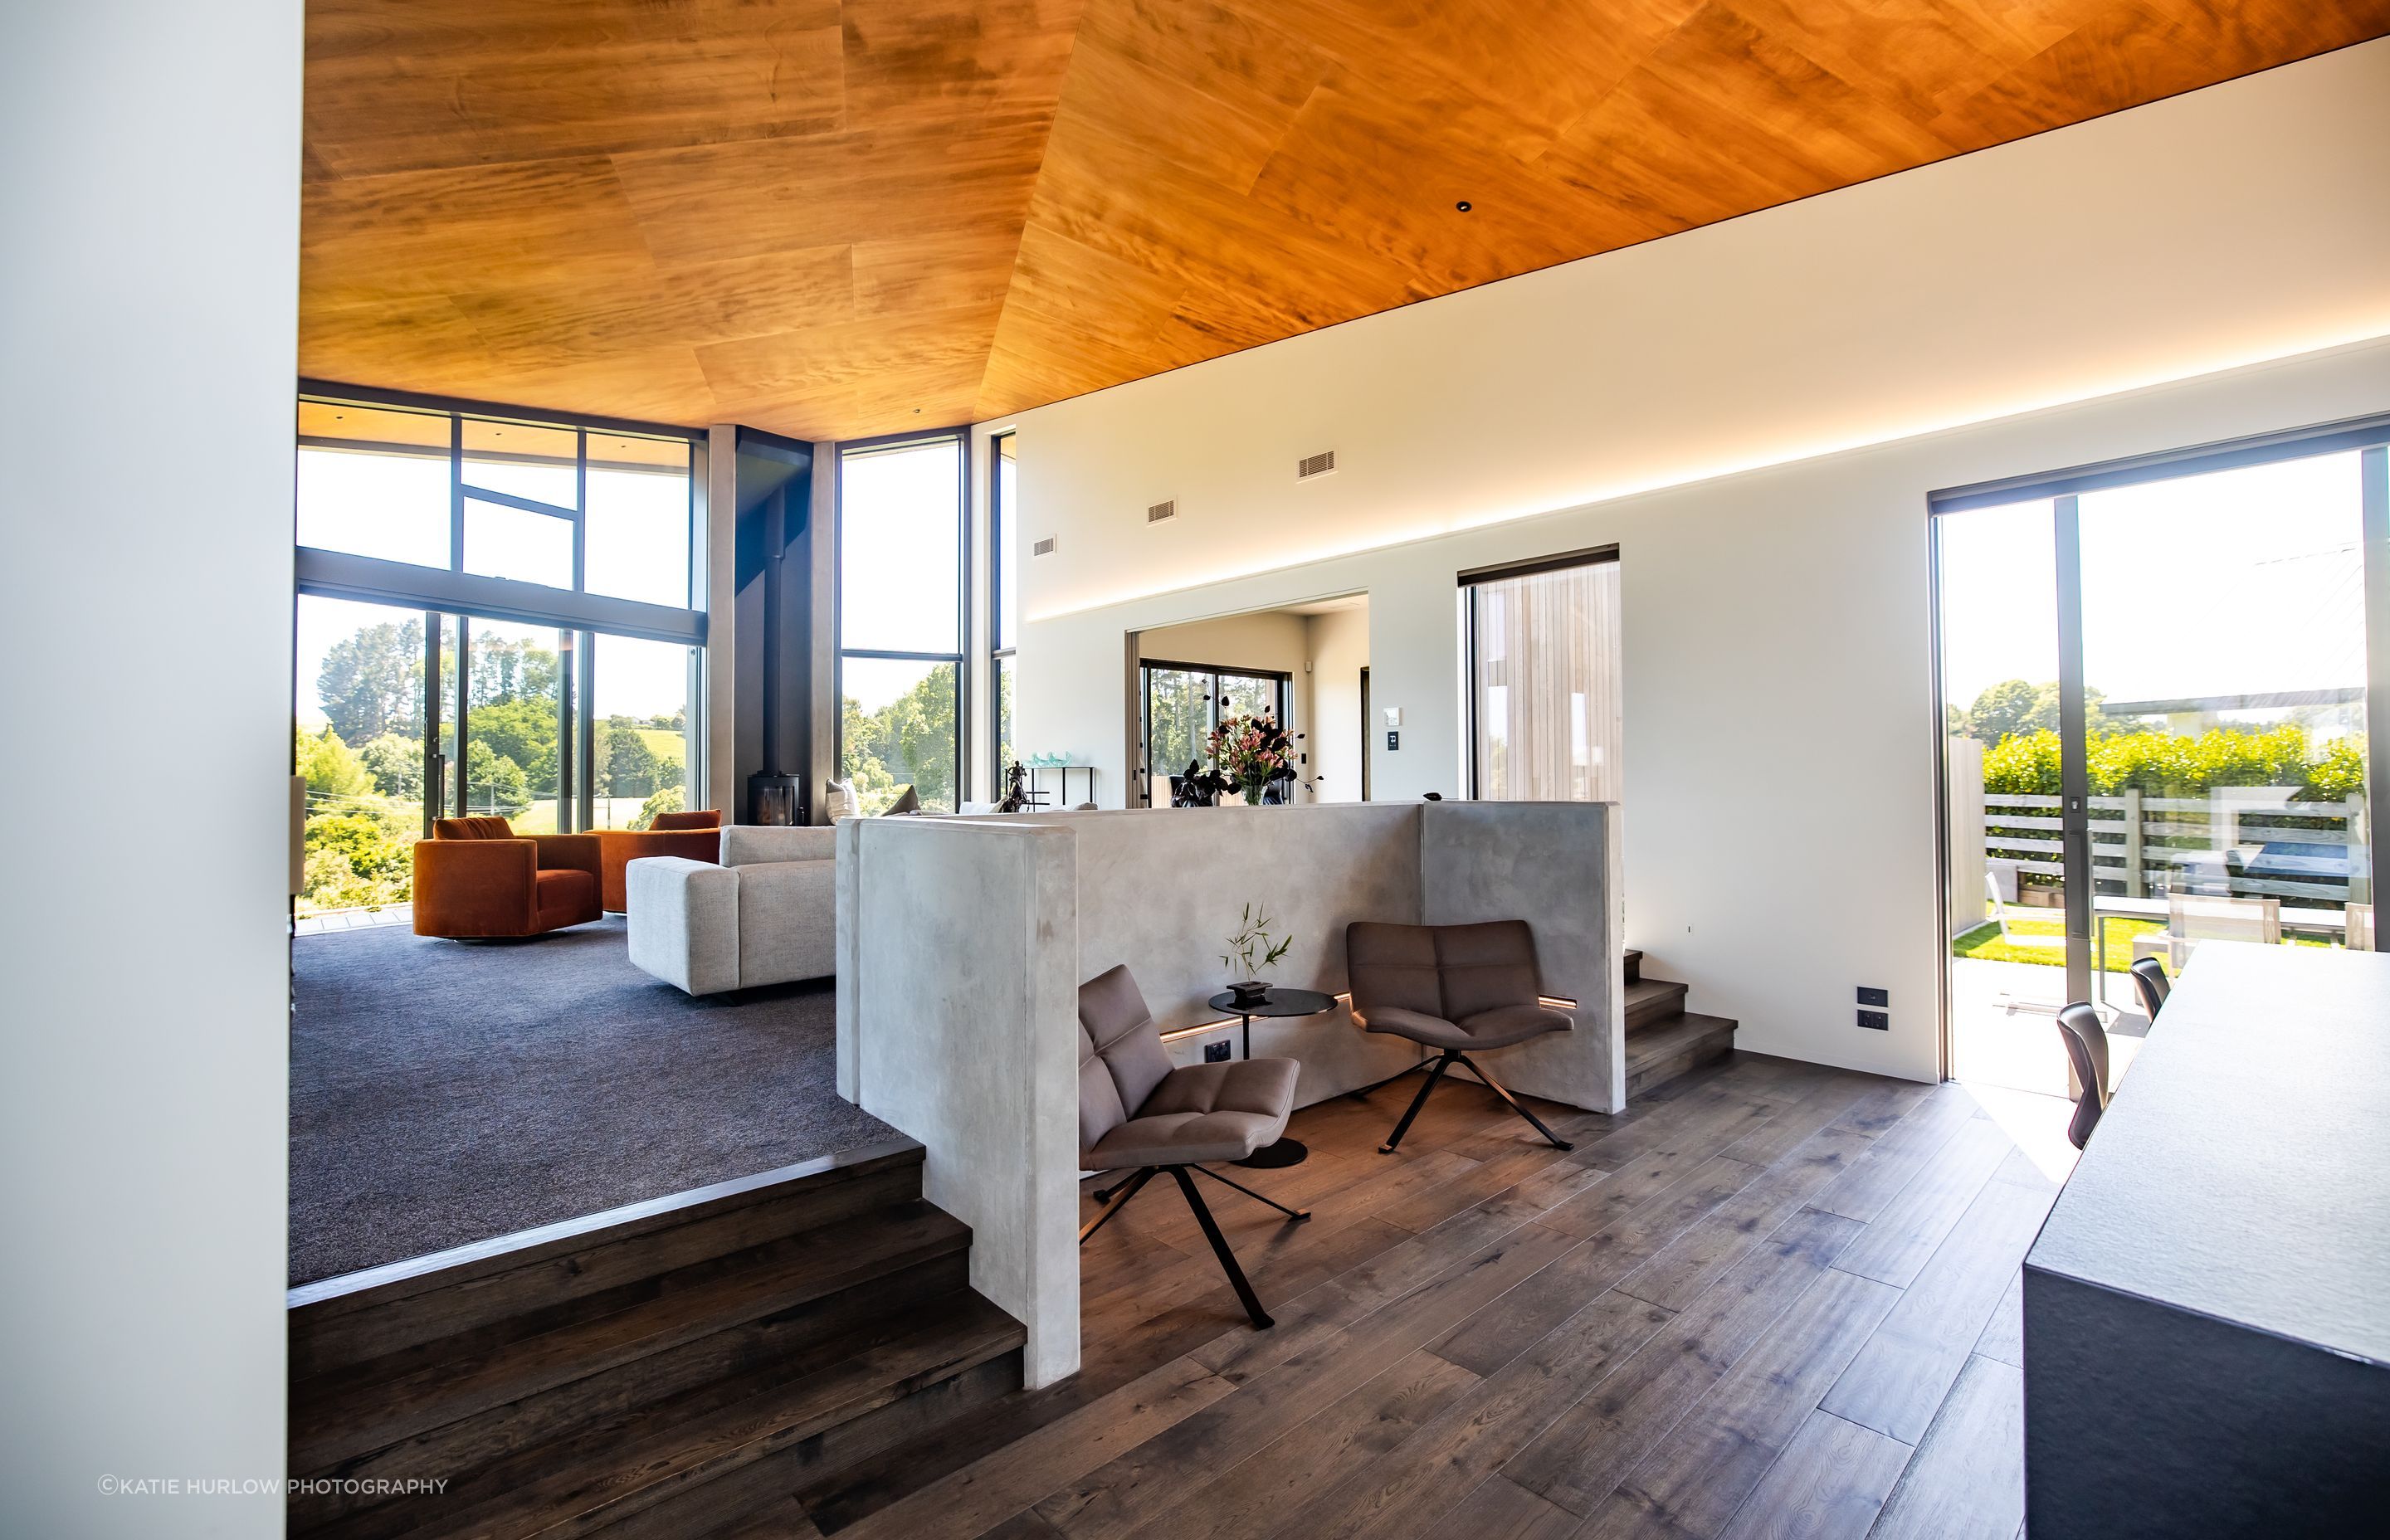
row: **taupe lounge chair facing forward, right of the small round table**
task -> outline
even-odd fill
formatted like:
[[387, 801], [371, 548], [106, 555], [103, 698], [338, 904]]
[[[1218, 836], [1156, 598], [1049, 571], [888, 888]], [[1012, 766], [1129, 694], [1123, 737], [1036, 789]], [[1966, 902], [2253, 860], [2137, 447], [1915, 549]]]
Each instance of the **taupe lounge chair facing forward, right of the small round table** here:
[[1575, 1028], [1565, 1012], [1542, 1000], [1534, 933], [1527, 921], [1479, 925], [1355, 921], [1346, 928], [1346, 978], [1353, 980], [1353, 1021], [1372, 1033], [1393, 1033], [1444, 1050], [1444, 1057], [1427, 1069], [1427, 1083], [1410, 1100], [1403, 1122], [1377, 1148], [1379, 1155], [1393, 1155], [1410, 1133], [1410, 1119], [1427, 1105], [1427, 1093], [1453, 1064], [1467, 1067], [1513, 1112], [1534, 1124], [1551, 1148], [1573, 1148], [1465, 1052]]

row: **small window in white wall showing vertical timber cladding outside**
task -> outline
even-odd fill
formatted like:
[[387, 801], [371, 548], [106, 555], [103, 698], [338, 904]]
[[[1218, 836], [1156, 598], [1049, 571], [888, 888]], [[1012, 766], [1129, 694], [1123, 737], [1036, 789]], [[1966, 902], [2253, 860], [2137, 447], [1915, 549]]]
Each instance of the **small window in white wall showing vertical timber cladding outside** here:
[[1618, 799], [1618, 550], [1460, 574], [1470, 796]]

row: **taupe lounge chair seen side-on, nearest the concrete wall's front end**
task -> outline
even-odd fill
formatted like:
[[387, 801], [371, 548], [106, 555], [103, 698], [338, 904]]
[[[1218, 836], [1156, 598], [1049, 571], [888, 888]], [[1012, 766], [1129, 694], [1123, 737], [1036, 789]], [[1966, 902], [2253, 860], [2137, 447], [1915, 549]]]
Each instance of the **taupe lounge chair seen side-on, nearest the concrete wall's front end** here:
[[1104, 1210], [1078, 1232], [1080, 1243], [1128, 1208], [1157, 1172], [1178, 1179], [1195, 1224], [1212, 1241], [1221, 1272], [1252, 1325], [1269, 1327], [1245, 1270], [1219, 1234], [1212, 1210], [1188, 1172], [1260, 1198], [1288, 1220], [1310, 1212], [1262, 1198], [1240, 1181], [1205, 1167], [1207, 1160], [1243, 1160], [1286, 1133], [1295, 1107], [1293, 1059], [1228, 1059], [1221, 1064], [1171, 1064], [1162, 1028], [1128, 968], [1111, 968], [1078, 988], [1078, 1167], [1083, 1172], [1135, 1172], [1119, 1186], [1097, 1191]]

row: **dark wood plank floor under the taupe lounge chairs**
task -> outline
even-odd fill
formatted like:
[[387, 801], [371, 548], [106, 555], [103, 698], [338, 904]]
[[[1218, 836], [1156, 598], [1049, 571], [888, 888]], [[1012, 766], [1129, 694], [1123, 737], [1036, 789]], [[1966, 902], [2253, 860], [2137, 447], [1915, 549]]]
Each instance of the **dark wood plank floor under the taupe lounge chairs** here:
[[1154, 1184], [1083, 1253], [1078, 1377], [746, 1533], [2020, 1533], [2017, 1265], [2060, 1102], [1996, 1122], [1735, 1055], [1618, 1119], [1546, 1110], [1568, 1155], [1465, 1086], [1377, 1155], [1408, 1095], [1295, 1114], [1312, 1160], [1252, 1186], [1307, 1224], [1207, 1193], [1276, 1330]]

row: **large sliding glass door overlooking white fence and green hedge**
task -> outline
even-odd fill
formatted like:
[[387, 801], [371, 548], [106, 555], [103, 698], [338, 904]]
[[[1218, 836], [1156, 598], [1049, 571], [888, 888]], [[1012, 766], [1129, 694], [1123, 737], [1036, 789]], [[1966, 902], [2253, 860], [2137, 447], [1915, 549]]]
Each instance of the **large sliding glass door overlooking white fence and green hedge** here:
[[1936, 500], [1950, 1071], [2113, 1071], [2134, 959], [2378, 947], [2368, 763], [2390, 667], [2390, 423]]

